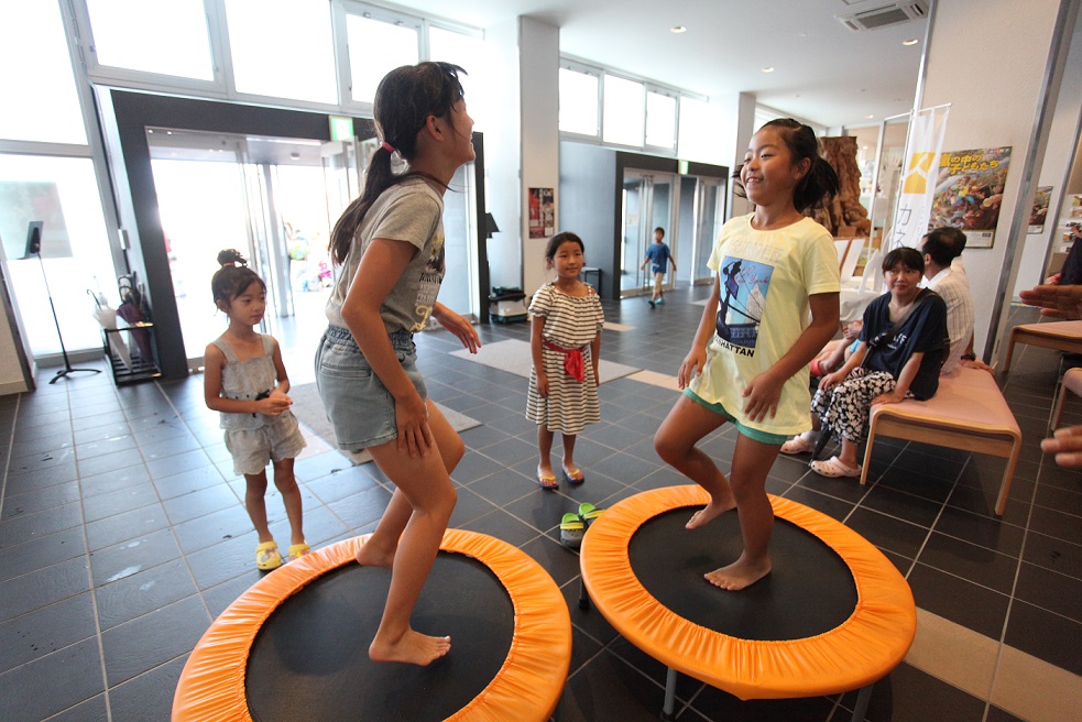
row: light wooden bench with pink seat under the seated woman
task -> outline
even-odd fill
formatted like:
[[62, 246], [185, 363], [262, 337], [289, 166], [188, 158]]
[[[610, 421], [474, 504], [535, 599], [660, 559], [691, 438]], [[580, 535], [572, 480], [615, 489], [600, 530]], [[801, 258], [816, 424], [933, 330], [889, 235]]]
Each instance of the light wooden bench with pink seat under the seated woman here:
[[1003, 516], [1021, 451], [1021, 429], [995, 379], [987, 371], [962, 367], [939, 380], [928, 401], [877, 404], [868, 422], [861, 483], [867, 482], [872, 446], [877, 436], [980, 451], [1007, 459], [995, 513]]

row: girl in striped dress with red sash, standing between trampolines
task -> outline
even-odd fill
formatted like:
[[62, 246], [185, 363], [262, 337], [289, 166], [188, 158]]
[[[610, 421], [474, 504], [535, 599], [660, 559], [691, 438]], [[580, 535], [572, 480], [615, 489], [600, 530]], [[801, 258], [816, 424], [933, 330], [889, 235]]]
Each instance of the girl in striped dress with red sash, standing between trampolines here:
[[553, 437], [564, 440], [564, 479], [569, 484], [586, 481], [575, 466], [575, 439], [587, 424], [601, 420], [598, 405], [598, 353], [604, 311], [592, 286], [579, 281], [584, 263], [582, 239], [557, 233], [545, 249], [546, 266], [556, 271], [551, 281], [534, 294], [526, 418], [537, 424], [537, 483], [543, 489], [559, 484], [549, 455]]

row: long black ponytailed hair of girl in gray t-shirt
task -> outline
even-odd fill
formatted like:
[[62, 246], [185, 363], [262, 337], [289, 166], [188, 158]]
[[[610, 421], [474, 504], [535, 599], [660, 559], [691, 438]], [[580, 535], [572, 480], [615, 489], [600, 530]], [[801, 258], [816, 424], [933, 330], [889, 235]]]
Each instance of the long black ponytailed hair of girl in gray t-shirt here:
[[335, 263], [346, 262], [353, 234], [380, 194], [406, 178], [420, 175], [395, 175], [391, 169], [391, 155], [397, 152], [407, 162], [416, 156], [417, 133], [425, 127], [428, 117], [446, 118], [462, 98], [459, 73], [465, 75], [466, 70], [450, 63], [427, 62], [395, 68], [380, 81], [372, 114], [383, 136], [383, 144], [369, 162], [364, 190], [342, 211], [330, 232], [328, 249]]

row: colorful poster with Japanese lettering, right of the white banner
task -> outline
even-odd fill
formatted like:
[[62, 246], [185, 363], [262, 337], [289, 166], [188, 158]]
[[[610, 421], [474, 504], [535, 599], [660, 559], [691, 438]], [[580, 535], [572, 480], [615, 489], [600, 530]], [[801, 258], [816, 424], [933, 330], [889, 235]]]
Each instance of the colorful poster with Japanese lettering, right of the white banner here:
[[1009, 145], [940, 155], [928, 230], [950, 226], [965, 233], [965, 248], [992, 248], [1009, 166]]

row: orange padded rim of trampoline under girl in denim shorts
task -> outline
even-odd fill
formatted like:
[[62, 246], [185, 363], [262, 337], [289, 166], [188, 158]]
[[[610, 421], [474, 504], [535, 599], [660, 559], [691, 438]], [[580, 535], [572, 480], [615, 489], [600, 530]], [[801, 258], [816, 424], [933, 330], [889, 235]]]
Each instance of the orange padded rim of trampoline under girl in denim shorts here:
[[[192, 650], [176, 693], [173, 721], [251, 722], [244, 690], [248, 655], [260, 627], [288, 597], [320, 575], [356, 564], [368, 535], [339, 542], [280, 567], [255, 582], [215, 620]], [[571, 663], [571, 617], [551, 577], [522, 550], [493, 537], [448, 529], [442, 551], [483, 564], [514, 606], [511, 650], [488, 687], [447, 718], [461, 722], [547, 720]]]

